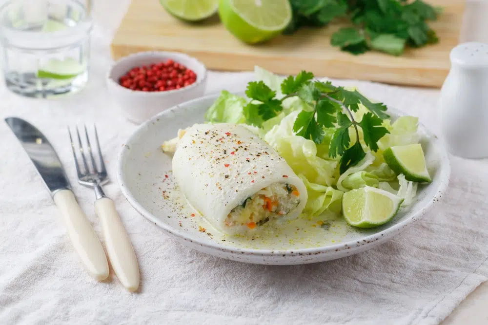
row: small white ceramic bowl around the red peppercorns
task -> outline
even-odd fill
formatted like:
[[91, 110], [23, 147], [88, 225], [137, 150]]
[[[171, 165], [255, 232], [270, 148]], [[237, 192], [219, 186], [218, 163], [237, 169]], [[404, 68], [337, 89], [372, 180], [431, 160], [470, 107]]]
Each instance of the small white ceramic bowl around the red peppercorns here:
[[[163, 92], [142, 92], [122, 87], [119, 79], [130, 69], [172, 59], [191, 69], [197, 80], [186, 87]], [[130, 121], [142, 123], [165, 109], [203, 96], [207, 70], [194, 57], [178, 52], [140, 52], [122, 57], [115, 62], [107, 74], [107, 87], [112, 98], [119, 104], [122, 114]]]

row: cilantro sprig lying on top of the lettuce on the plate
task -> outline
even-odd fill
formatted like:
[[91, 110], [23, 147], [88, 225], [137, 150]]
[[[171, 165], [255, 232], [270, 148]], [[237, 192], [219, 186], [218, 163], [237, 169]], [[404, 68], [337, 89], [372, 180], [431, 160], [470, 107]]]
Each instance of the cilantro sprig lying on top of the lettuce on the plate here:
[[[382, 126], [383, 119], [389, 117], [385, 113], [386, 106], [371, 102], [357, 90], [346, 90], [332, 85], [330, 81], [321, 82], [313, 78], [314, 75], [306, 71], [296, 77], [288, 76], [281, 84], [281, 91], [285, 95], [281, 99], [276, 98], [276, 92], [263, 81], [249, 82], [245, 93], [251, 101], [244, 108], [246, 123], [260, 127], [264, 121], [283, 111], [285, 99], [299, 97], [313, 109], [298, 114], [293, 132], [321, 144], [325, 128], [335, 128], [329, 145], [329, 156], [341, 156], [339, 171], [343, 173], [366, 156], [360, 142], [359, 129], [362, 130], [365, 145], [374, 152], [378, 151], [378, 140], [389, 133]], [[368, 112], [361, 121], [356, 121], [352, 112], [357, 112], [360, 105]], [[355, 133], [354, 143], [351, 143], [350, 130]]]

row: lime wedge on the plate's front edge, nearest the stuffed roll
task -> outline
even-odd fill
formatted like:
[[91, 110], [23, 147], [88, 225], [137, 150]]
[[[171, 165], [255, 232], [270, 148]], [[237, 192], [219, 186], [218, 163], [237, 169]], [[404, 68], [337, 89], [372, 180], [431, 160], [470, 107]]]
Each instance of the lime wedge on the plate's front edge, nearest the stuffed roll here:
[[395, 194], [366, 186], [344, 193], [342, 211], [349, 225], [373, 228], [393, 219], [402, 202]]

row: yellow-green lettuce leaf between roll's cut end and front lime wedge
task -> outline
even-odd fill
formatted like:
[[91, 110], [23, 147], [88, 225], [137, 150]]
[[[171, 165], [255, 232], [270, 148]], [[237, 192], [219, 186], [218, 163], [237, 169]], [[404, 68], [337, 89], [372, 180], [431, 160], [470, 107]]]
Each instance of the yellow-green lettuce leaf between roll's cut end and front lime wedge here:
[[304, 211], [309, 216], [317, 216], [325, 210], [340, 213], [342, 209], [342, 191], [335, 190], [330, 186], [310, 183], [303, 174], [298, 175], [307, 189], [308, 200]]

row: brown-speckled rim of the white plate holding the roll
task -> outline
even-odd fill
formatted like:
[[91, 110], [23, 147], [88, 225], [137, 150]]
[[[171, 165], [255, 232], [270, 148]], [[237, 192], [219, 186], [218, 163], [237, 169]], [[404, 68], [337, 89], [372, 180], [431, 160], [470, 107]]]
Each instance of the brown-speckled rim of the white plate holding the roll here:
[[[422, 123], [419, 122], [419, 125], [422, 126], [422, 128], [427, 131], [427, 135], [431, 139], [435, 139], [433, 142], [435, 142], [434, 146], [437, 147], [439, 150], [439, 161], [440, 161], [440, 166], [439, 169], [441, 172], [437, 177], [440, 177], [440, 184], [438, 186], [437, 192], [435, 193], [434, 197], [428, 201], [426, 205], [424, 205], [422, 208], [415, 212], [407, 212], [409, 215], [406, 216], [406, 219], [402, 222], [399, 222], [398, 224], [395, 224], [389, 228], [386, 228], [380, 232], [371, 234], [369, 236], [365, 236], [361, 241], [357, 240], [352, 240], [348, 241], [345, 243], [340, 243], [340, 244], [333, 244], [333, 245], [328, 245], [328, 246], [323, 246], [323, 247], [316, 247], [316, 248], [305, 248], [305, 249], [246, 249], [246, 248], [239, 248], [239, 247], [232, 247], [228, 245], [223, 245], [223, 244], [213, 244], [213, 243], [205, 243], [200, 240], [200, 238], [193, 237], [191, 235], [191, 232], [188, 231], [181, 231], [179, 229], [173, 228], [169, 226], [168, 224], [164, 223], [162, 219], [154, 216], [151, 212], [146, 210], [132, 195], [130, 192], [129, 188], [125, 185], [125, 177], [123, 174], [123, 161], [125, 155], [128, 153], [128, 146], [127, 144], [130, 144], [133, 139], [137, 138], [138, 134], [142, 132], [144, 129], [146, 129], [150, 124], [154, 123], [155, 121], [159, 120], [160, 118], [164, 117], [165, 115], [171, 114], [175, 110], [180, 110], [183, 109], [186, 106], [191, 106], [195, 104], [198, 101], [201, 101], [203, 99], [208, 99], [211, 97], [217, 98], [219, 95], [218, 94], [213, 94], [213, 95], [207, 95], [199, 98], [195, 98], [186, 102], [183, 102], [179, 105], [176, 105], [170, 109], [167, 109], [163, 112], [161, 112], [158, 115], [155, 115], [142, 123], [132, 134], [129, 136], [127, 141], [125, 142], [124, 145], [122, 145], [122, 149], [119, 153], [118, 156], [118, 161], [117, 161], [117, 180], [119, 182], [119, 186], [121, 188], [122, 194], [125, 196], [129, 204], [136, 210], [138, 211], [144, 218], [149, 220], [152, 224], [158, 226], [159, 228], [163, 229], [166, 231], [168, 234], [180, 237], [181, 239], [193, 243], [193, 244], [198, 244], [200, 247], [205, 247], [208, 249], [217, 249], [222, 252], [230, 253], [230, 254], [245, 254], [245, 255], [253, 255], [253, 256], [258, 256], [258, 257], [273, 257], [273, 256], [282, 256], [282, 257], [292, 257], [292, 256], [298, 256], [298, 255], [317, 255], [317, 254], [327, 254], [327, 253], [339, 253], [343, 250], [347, 249], [352, 249], [354, 248], [354, 252], [352, 254], [364, 251], [369, 248], [373, 248], [374, 246], [383, 243], [397, 234], [399, 234], [402, 230], [406, 229], [407, 227], [411, 226], [414, 222], [420, 220], [428, 210], [430, 210], [439, 200], [441, 197], [444, 195], [444, 193], [447, 190], [447, 186], [449, 184], [449, 179], [450, 179], [450, 161], [449, 161], [449, 155], [447, 153], [447, 149], [440, 141], [439, 138], [437, 138], [434, 134], [432, 134]], [[402, 111], [392, 109], [388, 107], [388, 111], [394, 113], [397, 116], [402, 116], [402, 115], [407, 115]], [[432, 140], [430, 140], [432, 142]], [[373, 245], [374, 244], [374, 245]], [[352, 255], [351, 254], [351, 255]], [[340, 257], [340, 256], [339, 256]], [[334, 257], [330, 258], [334, 259]], [[305, 262], [306, 263], [306, 262]]]

